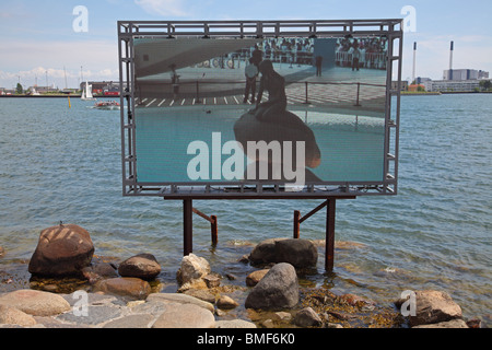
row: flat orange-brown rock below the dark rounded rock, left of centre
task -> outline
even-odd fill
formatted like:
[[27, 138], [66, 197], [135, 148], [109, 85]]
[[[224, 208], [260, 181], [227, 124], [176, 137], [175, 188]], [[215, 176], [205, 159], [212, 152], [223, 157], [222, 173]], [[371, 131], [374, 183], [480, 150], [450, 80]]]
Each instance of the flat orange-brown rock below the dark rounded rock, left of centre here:
[[95, 290], [106, 294], [115, 294], [143, 300], [151, 293], [149, 282], [134, 277], [119, 277], [102, 280]]

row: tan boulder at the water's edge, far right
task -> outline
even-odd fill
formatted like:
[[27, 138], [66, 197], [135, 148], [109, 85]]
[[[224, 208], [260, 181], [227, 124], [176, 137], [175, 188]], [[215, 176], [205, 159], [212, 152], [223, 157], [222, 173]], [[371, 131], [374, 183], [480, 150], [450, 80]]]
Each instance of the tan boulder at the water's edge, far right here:
[[[396, 304], [403, 302], [399, 300]], [[415, 291], [415, 316], [409, 316], [411, 327], [461, 318], [461, 307], [446, 292]]]

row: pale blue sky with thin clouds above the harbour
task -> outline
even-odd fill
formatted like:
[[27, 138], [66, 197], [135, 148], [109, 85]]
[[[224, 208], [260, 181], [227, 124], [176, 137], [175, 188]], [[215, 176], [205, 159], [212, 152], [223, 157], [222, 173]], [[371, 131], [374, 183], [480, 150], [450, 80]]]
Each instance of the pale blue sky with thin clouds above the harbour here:
[[450, 40], [454, 69], [492, 73], [491, 13], [490, 0], [1, 1], [0, 86], [21, 82], [26, 88], [37, 81], [63, 89], [78, 86], [82, 79], [117, 81], [117, 21], [126, 20], [405, 19], [403, 80], [412, 77], [414, 42], [417, 77], [442, 79]]

